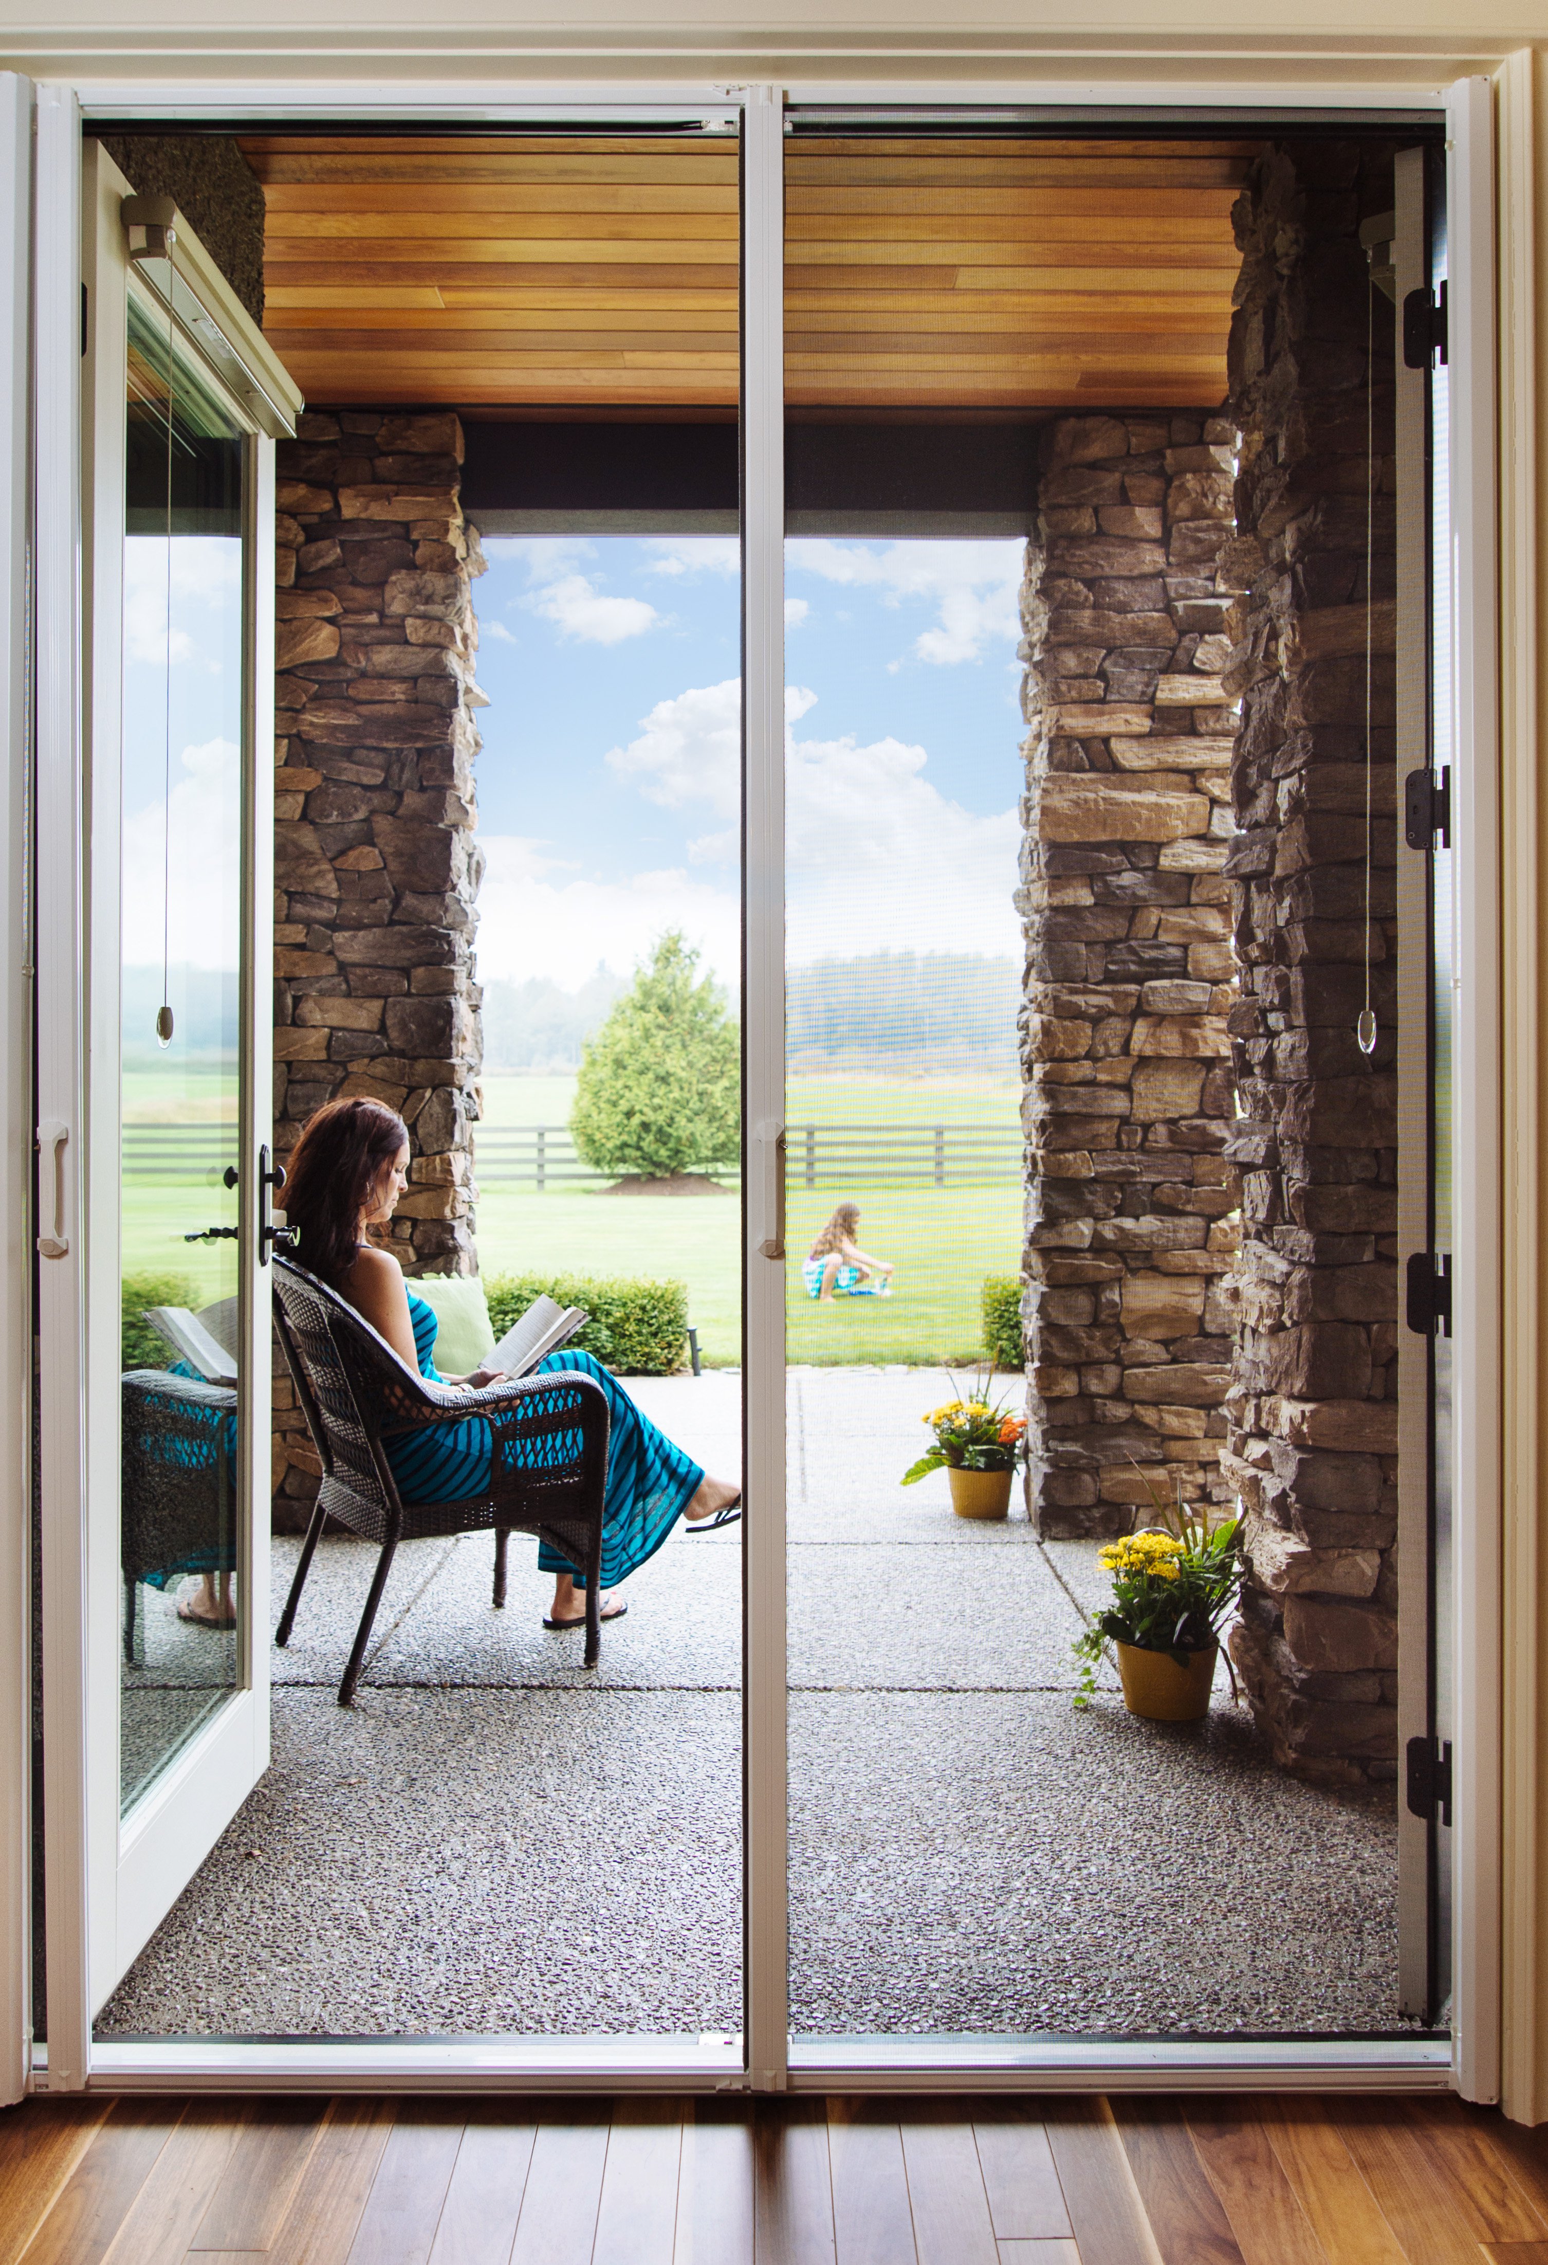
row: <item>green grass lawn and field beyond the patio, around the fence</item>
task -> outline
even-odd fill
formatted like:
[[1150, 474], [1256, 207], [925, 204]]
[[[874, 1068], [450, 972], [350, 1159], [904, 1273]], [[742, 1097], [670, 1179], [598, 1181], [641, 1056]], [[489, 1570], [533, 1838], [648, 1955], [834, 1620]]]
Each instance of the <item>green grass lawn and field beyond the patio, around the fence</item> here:
[[[573, 1080], [489, 1076], [487, 1121], [566, 1123]], [[790, 1123], [1016, 1126], [1016, 1089], [987, 1078], [941, 1083], [794, 1078]], [[788, 1352], [801, 1364], [971, 1357], [982, 1345], [978, 1309], [987, 1273], [1016, 1273], [1021, 1189], [867, 1187], [858, 1194], [860, 1243], [898, 1268], [892, 1298], [815, 1305], [801, 1291], [801, 1257], [842, 1187], [792, 1189], [788, 1248]], [[611, 1196], [604, 1189], [487, 1189], [478, 1205], [484, 1273], [525, 1268], [679, 1275], [708, 1361], [740, 1361], [740, 1203], [724, 1196]]]

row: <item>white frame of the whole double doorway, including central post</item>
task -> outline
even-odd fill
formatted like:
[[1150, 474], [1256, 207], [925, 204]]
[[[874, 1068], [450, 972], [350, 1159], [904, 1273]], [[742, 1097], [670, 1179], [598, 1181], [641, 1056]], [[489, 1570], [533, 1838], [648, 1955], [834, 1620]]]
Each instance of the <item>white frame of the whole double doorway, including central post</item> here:
[[[779, 2091], [785, 2084], [812, 2091], [840, 2086], [869, 2088], [951, 2088], [953, 2084], [987, 2088], [1102, 2088], [1102, 2086], [1349, 2086], [1408, 2088], [1457, 2084], [1473, 2100], [1498, 2095], [1498, 723], [1494, 657], [1498, 652], [1498, 600], [1494, 589], [1494, 217], [1491, 217], [1491, 82], [1462, 79], [1453, 86], [1414, 86], [1374, 79], [1322, 84], [1281, 82], [1175, 82], [1175, 79], [973, 79], [953, 82], [946, 57], [932, 59], [935, 70], [917, 79], [885, 82], [794, 82], [792, 100], [824, 102], [1025, 102], [1068, 109], [1111, 109], [1118, 104], [1179, 111], [1258, 109], [1279, 116], [1297, 109], [1347, 111], [1414, 111], [1444, 109], [1451, 129], [1451, 240], [1453, 240], [1453, 507], [1457, 523], [1457, 1078], [1455, 1078], [1455, 1173], [1460, 1191], [1457, 1259], [1455, 1259], [1455, 1343], [1457, 1343], [1457, 1803], [1455, 1803], [1455, 1912], [1457, 1912], [1457, 1980], [1455, 2043], [1383, 2045], [1326, 2043], [1220, 2048], [1220, 2045], [1070, 2045], [1032, 2048], [1021, 2038], [975, 2041], [957, 2061], [941, 2057], [935, 2041], [858, 2041], [844, 2068], [819, 2068], [797, 2054], [790, 2066], [783, 2036], [785, 2005], [785, 1749], [783, 1749], [783, 1377], [774, 1379], [772, 1359], [781, 1350], [783, 1298], [776, 1323], [772, 1277], [779, 1273], [763, 1259], [763, 1277], [751, 1271], [751, 1228], [758, 1241], [772, 1239], [767, 1216], [749, 1221], [749, 1320], [747, 1345], [747, 1445], [749, 1445], [749, 1538], [747, 1538], [747, 1692], [758, 1708], [758, 1735], [747, 1740], [747, 2005], [749, 2005], [749, 2072], [758, 2088]], [[77, 381], [75, 324], [77, 270], [75, 229], [68, 222], [72, 199], [72, 165], [79, 147], [68, 125], [79, 106], [95, 116], [154, 118], [165, 122], [303, 120], [373, 118], [410, 122], [432, 118], [475, 118], [505, 122], [511, 118], [552, 118], [557, 106], [597, 116], [618, 106], [620, 120], [640, 116], [654, 104], [722, 106], [740, 100], [747, 109], [745, 140], [754, 154], [747, 174], [747, 260], [749, 306], [745, 335], [749, 351], [772, 353], [779, 340], [772, 247], [776, 168], [765, 118], [776, 120], [774, 88], [726, 88], [704, 82], [584, 82], [564, 84], [509, 79], [482, 84], [475, 93], [464, 84], [421, 82], [416, 88], [380, 82], [317, 79], [181, 79], [174, 100], [156, 100], [145, 79], [88, 79], [38, 88], [38, 199], [45, 213], [50, 249], [48, 272], [38, 274], [34, 322], [38, 340], [36, 383], [36, 462], [38, 489], [50, 496], [50, 512], [38, 519], [38, 605], [45, 641], [38, 646], [38, 795], [63, 795], [79, 784], [79, 732], [75, 725], [79, 689], [75, 682], [75, 607], [72, 580], [75, 528], [59, 514], [59, 498], [75, 496], [77, 424], [70, 412]], [[765, 113], [760, 118], [758, 113]], [[45, 240], [41, 231], [41, 242]], [[1467, 249], [1464, 249], [1467, 247]], [[52, 258], [52, 254], [59, 258]], [[50, 390], [54, 387], [54, 390]], [[767, 1042], [774, 1012], [774, 983], [783, 994], [783, 965], [774, 969], [774, 899], [772, 881], [783, 858], [781, 788], [776, 750], [783, 750], [783, 639], [772, 612], [779, 596], [781, 559], [781, 435], [772, 371], [749, 385], [745, 439], [745, 546], [749, 587], [747, 614], [747, 729], [749, 757], [758, 757], [763, 779], [747, 797], [747, 999], [763, 1017], [765, 1044], [747, 1062], [749, 1126], [779, 1128], [783, 1092], [776, 1094], [774, 1046]], [[79, 510], [79, 498], [77, 505]], [[68, 920], [68, 906], [48, 906], [52, 920]], [[781, 938], [783, 954], [783, 938]], [[70, 1042], [61, 1049], [70, 1055]], [[72, 1058], [50, 1065], [50, 1094], [66, 1092], [75, 1074]], [[783, 1062], [779, 1065], [783, 1078]], [[45, 1108], [43, 1092], [38, 1110]], [[754, 1110], [763, 1114], [754, 1117]], [[767, 1137], [767, 1135], [765, 1135]], [[749, 1203], [767, 1185], [749, 1173]], [[66, 1162], [66, 1200], [75, 1200], [75, 1180]], [[50, 1268], [43, 1268], [48, 1277]], [[758, 1361], [754, 1370], [751, 1361]], [[63, 1407], [75, 1379], [45, 1377], [50, 1407]], [[758, 1488], [758, 1493], [754, 1493]], [[57, 1490], [45, 1540], [45, 1570], [52, 1567], [52, 1619], [45, 1644], [63, 1644], [79, 1653], [84, 1631], [72, 1626], [72, 1608], [61, 1604], [61, 1588], [77, 1563], [75, 1552], [79, 1504]], [[59, 1690], [54, 1692], [54, 1685]], [[81, 1726], [79, 1692], [70, 1676], [54, 1669], [50, 1683], [50, 1764], [48, 1783], [59, 1783], [61, 1796], [72, 1776], [61, 1755], [61, 1742]], [[57, 1830], [50, 1830], [50, 1975], [59, 1959], [59, 1984], [50, 1986], [50, 2029], [61, 2023], [81, 2045], [72, 2054], [50, 2054], [50, 2088], [54, 2082], [77, 2086], [91, 2082], [104, 2088], [167, 2086], [251, 2086], [251, 2088], [545, 2088], [561, 2084], [573, 2091], [618, 2088], [724, 2088], [749, 2082], [726, 2063], [726, 2054], [663, 2054], [652, 2041], [631, 2048], [629, 2041], [597, 2045], [525, 2045], [478, 2043], [468, 2050], [444, 2045], [91, 2045], [86, 2023], [72, 2018], [66, 1993], [68, 1961], [81, 1941], [81, 1853], [70, 1839], [68, 1801], [63, 1817], [50, 1803]], [[20, 1805], [14, 1801], [7, 1819], [20, 1830]], [[59, 1837], [57, 1837], [59, 1835]], [[84, 1968], [81, 1968], [84, 1971]], [[59, 1991], [61, 1995], [54, 1995]], [[81, 2000], [84, 2007], [84, 2000]], [[77, 2009], [79, 2011], [79, 2009]], [[79, 2057], [88, 2052], [88, 2066]], [[690, 2066], [693, 2063], [693, 2066]]]

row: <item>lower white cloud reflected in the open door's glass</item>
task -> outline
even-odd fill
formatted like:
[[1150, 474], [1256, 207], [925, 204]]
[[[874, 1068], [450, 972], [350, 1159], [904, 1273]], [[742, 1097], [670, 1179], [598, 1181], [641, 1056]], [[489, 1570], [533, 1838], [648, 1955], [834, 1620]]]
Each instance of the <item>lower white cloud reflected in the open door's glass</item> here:
[[[183, 747], [172, 800], [124, 815], [122, 949], [129, 967], [167, 954], [190, 967], [238, 965], [242, 759], [229, 738]], [[163, 888], [170, 877], [170, 890]], [[170, 897], [170, 904], [167, 904]]]

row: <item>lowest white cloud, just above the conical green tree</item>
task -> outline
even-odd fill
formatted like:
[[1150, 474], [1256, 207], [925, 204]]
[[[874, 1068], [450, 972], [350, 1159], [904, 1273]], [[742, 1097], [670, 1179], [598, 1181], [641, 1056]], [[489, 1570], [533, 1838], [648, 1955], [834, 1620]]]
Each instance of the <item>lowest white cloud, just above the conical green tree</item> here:
[[478, 892], [478, 969], [484, 981], [548, 976], [577, 990], [597, 960], [629, 974], [663, 929], [681, 929], [706, 967], [736, 990], [742, 915], [736, 890], [683, 870], [627, 881], [577, 877], [518, 834], [480, 836], [487, 870]]

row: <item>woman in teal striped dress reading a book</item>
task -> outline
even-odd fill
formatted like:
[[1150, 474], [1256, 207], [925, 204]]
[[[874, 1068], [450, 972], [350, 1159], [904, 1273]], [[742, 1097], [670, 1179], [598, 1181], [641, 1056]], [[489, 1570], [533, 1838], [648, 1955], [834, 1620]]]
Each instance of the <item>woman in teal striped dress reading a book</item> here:
[[[505, 1370], [478, 1368], [471, 1377], [444, 1377], [435, 1366], [437, 1318], [403, 1280], [389, 1250], [367, 1237], [385, 1225], [407, 1185], [410, 1137], [401, 1117], [380, 1101], [328, 1101], [308, 1119], [290, 1160], [285, 1216], [299, 1230], [299, 1259], [321, 1282], [346, 1298], [385, 1336], [398, 1359], [437, 1384], [496, 1384]], [[665, 1431], [629, 1400], [607, 1368], [588, 1352], [548, 1352], [539, 1370], [579, 1368], [595, 1377], [609, 1402], [607, 1499], [602, 1511], [602, 1619], [620, 1619], [629, 1608], [607, 1595], [654, 1556], [679, 1518], [706, 1533], [733, 1524], [740, 1488], [711, 1479]], [[407, 1431], [382, 1441], [392, 1475], [405, 1502], [462, 1502], [489, 1486], [489, 1425], [480, 1416], [435, 1431]], [[539, 1565], [554, 1574], [554, 1601], [545, 1629], [586, 1624], [584, 1588], [568, 1558], [548, 1542]]]

